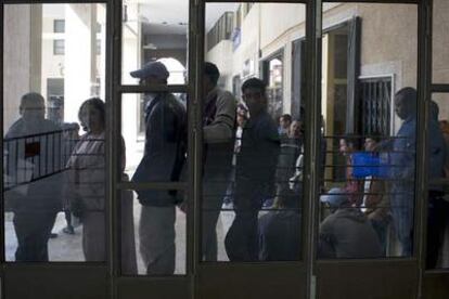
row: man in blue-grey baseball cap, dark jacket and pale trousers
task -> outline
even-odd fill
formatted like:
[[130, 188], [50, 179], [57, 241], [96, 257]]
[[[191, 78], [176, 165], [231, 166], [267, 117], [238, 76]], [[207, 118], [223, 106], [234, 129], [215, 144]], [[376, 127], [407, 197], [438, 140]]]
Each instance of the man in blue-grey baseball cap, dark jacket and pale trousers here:
[[[161, 62], [150, 62], [130, 75], [144, 86], [167, 84], [169, 73]], [[133, 182], [179, 181], [185, 157], [187, 115], [169, 92], [145, 93], [145, 147]], [[175, 191], [136, 191], [142, 211], [140, 252], [150, 275], [175, 272]]]

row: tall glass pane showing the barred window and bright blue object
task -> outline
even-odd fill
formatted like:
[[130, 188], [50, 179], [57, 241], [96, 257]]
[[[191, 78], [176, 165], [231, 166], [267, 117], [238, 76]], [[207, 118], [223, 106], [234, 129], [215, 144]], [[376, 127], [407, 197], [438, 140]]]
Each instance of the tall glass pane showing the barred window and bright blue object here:
[[326, 4], [318, 256], [408, 257], [413, 249], [416, 5]]

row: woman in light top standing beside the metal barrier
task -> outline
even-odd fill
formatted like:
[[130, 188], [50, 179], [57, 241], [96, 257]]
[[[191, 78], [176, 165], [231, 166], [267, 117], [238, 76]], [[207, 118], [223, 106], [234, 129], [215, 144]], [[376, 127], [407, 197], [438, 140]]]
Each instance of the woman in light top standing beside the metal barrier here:
[[98, 98], [85, 101], [78, 118], [87, 133], [79, 139], [67, 161], [65, 197], [82, 223], [86, 261], [105, 261], [104, 102]]

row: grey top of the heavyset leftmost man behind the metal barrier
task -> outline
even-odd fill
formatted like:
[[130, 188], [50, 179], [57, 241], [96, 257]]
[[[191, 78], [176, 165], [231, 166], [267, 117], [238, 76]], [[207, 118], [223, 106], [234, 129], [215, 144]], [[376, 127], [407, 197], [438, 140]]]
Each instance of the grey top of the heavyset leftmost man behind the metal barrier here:
[[61, 128], [51, 120], [26, 123], [20, 118], [11, 126], [4, 136], [5, 187], [11, 187], [4, 193], [7, 209], [61, 210], [62, 145]]

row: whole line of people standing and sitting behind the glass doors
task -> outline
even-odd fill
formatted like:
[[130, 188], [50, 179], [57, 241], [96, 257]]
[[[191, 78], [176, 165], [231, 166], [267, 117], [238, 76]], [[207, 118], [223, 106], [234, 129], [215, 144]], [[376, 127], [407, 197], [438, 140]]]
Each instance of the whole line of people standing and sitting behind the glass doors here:
[[[131, 72], [140, 84], [167, 86], [169, 72], [161, 62], [150, 62]], [[304, 110], [300, 119], [285, 114], [280, 126], [268, 113], [266, 83], [257, 78], [243, 82], [242, 101], [218, 87], [220, 72], [205, 63], [203, 73], [203, 192], [200, 198], [201, 259], [217, 261], [217, 222], [223, 200], [232, 204], [234, 219], [226, 232], [224, 247], [230, 261], [270, 261], [300, 259], [300, 220], [304, 181]], [[144, 94], [145, 142], [143, 157], [131, 182], [176, 182], [185, 172], [187, 112], [172, 93], [158, 91]], [[394, 227], [403, 256], [412, 252], [413, 198], [415, 176], [416, 92], [406, 88], [396, 93], [397, 116], [403, 120], [394, 139], [383, 140], [372, 133], [364, 140], [346, 135], [339, 140], [344, 156], [345, 183], [322, 185], [320, 203], [330, 214], [320, 225], [320, 258], [376, 258], [387, 255], [388, 227]], [[435, 104], [436, 105], [436, 104]], [[437, 122], [434, 106], [429, 122], [429, 179], [448, 172], [448, 148], [444, 123]], [[38, 93], [22, 98], [21, 118], [5, 138], [21, 138], [61, 131], [44, 118], [44, 100]], [[26, 192], [7, 193], [12, 202], [14, 229], [18, 246], [16, 261], [48, 261], [48, 240], [56, 213], [66, 212], [65, 232], [74, 233], [72, 214], [82, 223], [82, 252], [86, 261], [106, 259], [105, 235], [105, 104], [98, 98], [82, 103], [78, 113], [78, 136], [74, 125], [63, 126], [64, 171], [29, 183]], [[440, 126], [440, 127], [438, 127]], [[70, 131], [70, 132], [69, 132]], [[449, 130], [447, 130], [449, 131]], [[322, 140], [324, 140], [322, 138]], [[74, 142], [75, 141], [75, 142]], [[364, 143], [364, 148], [361, 144]], [[325, 160], [326, 145], [320, 160]], [[22, 152], [23, 153], [22, 153]], [[42, 155], [49, 148], [36, 150], [29, 144], [16, 153]], [[123, 180], [126, 157], [121, 140]], [[387, 156], [388, 173], [373, 171], [360, 176], [357, 153], [375, 160]], [[387, 153], [387, 154], [385, 154]], [[7, 159], [13, 162], [14, 159]], [[377, 165], [380, 166], [380, 165]], [[324, 162], [323, 162], [324, 167]], [[323, 171], [324, 172], [324, 169]], [[11, 174], [11, 173], [7, 173]], [[31, 174], [37, 177], [36, 173]], [[17, 177], [17, 176], [15, 176]], [[324, 177], [324, 174], [323, 174]], [[50, 179], [49, 179], [50, 178]], [[390, 180], [394, 178], [395, 180]], [[323, 181], [323, 180], [322, 180]], [[330, 188], [329, 192], [325, 192]], [[176, 265], [176, 209], [185, 211], [183, 195], [175, 190], [136, 190], [141, 205], [139, 251], [149, 275], [170, 275]], [[137, 272], [133, 233], [132, 194], [123, 192], [120, 207], [121, 268], [127, 274]], [[441, 245], [441, 223], [447, 214], [444, 191], [432, 187], [427, 234], [428, 266], [435, 266]], [[64, 200], [61, 200], [64, 198]], [[269, 204], [267, 204], [269, 203]], [[442, 208], [441, 208], [442, 207]], [[264, 211], [267, 209], [267, 211]]]

